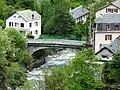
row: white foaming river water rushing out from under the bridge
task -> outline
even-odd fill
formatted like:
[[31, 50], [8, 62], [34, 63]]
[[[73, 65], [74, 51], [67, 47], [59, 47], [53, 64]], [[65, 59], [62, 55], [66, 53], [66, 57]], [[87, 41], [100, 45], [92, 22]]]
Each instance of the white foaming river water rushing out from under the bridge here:
[[35, 68], [28, 73], [27, 79], [32, 81], [32, 85], [34, 87], [33, 90], [45, 90], [44, 85], [44, 73], [43, 70], [45, 68], [50, 69], [54, 66], [65, 66], [70, 63], [72, 58], [75, 57], [77, 50], [75, 49], [64, 49], [58, 51], [54, 55], [50, 55], [45, 57], [46, 63], [41, 65], [39, 68]]

